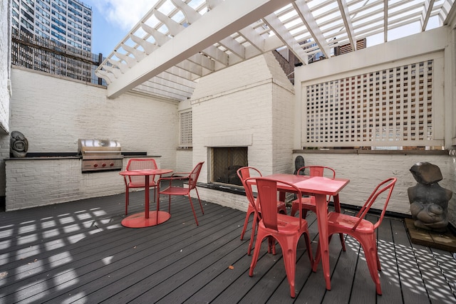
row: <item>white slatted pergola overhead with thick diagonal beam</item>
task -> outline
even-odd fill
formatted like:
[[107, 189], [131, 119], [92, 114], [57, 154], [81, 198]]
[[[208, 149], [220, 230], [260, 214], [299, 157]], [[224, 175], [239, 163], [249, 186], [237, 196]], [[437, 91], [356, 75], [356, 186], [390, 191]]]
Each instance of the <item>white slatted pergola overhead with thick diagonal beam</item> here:
[[[160, 0], [95, 73], [108, 97], [129, 90], [190, 98], [198, 78], [288, 48], [303, 64], [336, 46], [447, 24], [454, 0]], [[437, 24], [437, 25], [435, 25]], [[410, 31], [410, 26], [415, 26]], [[410, 32], [409, 32], [410, 31]], [[423, 43], [425, 43], [423, 41]]]

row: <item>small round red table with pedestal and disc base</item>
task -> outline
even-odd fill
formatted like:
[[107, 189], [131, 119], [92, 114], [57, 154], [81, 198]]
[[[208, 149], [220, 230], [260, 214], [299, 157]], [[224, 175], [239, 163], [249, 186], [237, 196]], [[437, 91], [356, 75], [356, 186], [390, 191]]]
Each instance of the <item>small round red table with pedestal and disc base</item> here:
[[144, 212], [132, 214], [122, 220], [122, 226], [130, 228], [142, 228], [162, 224], [170, 219], [171, 214], [160, 211], [160, 205], [157, 201], [157, 210], [149, 211], [149, 178], [150, 175], [161, 175], [171, 173], [171, 169], [142, 169], [119, 172], [120, 175], [145, 176], [145, 209]]

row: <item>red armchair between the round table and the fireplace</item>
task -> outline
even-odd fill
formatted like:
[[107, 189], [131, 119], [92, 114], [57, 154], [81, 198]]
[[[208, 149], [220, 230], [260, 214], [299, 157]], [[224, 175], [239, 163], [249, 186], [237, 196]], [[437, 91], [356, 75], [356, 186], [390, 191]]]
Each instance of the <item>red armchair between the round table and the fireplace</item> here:
[[[171, 177], [162, 177], [162, 178], [158, 179], [158, 181], [157, 181], [157, 184], [158, 184], [157, 208], [160, 205], [160, 194], [167, 194], [169, 196], [170, 201], [168, 203], [168, 212], [170, 212], [170, 213], [171, 213], [171, 196], [172, 195], [186, 195], [186, 196], [188, 196], [188, 199], [190, 200], [190, 206], [192, 206], [193, 215], [195, 216], [195, 221], [197, 222], [197, 226], [198, 226], [197, 214], [195, 213], [195, 208], [193, 208], [192, 197], [190, 197], [190, 191], [192, 191], [192, 189], [195, 189], [195, 191], [197, 192], [199, 206], [201, 207], [202, 214], [204, 214], [204, 210], [202, 209], [202, 204], [201, 204], [201, 200], [199, 199], [199, 194], [198, 194], [198, 189], [197, 189], [197, 180], [199, 177], [199, 172], [201, 172], [202, 164], [204, 164], [204, 162], [199, 162], [195, 166], [195, 168], [193, 168], [192, 172], [190, 172], [190, 173], [189, 172], [176, 172], [176, 173], [172, 174]], [[184, 176], [182, 176], [182, 175], [184, 175]], [[188, 186], [184, 185], [184, 187], [176, 187], [176, 186], [172, 185], [173, 181], [185, 182], [186, 180], [188, 181]], [[161, 190], [160, 189], [161, 182], [164, 182], [164, 181], [168, 181], [169, 185], [166, 189]]]

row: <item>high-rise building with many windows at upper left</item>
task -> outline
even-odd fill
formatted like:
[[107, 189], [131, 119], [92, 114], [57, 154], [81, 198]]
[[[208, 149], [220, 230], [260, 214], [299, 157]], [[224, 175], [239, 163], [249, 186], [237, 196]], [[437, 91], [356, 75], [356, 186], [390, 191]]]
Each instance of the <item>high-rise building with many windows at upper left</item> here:
[[26, 33], [92, 51], [92, 8], [78, 0], [13, 0], [12, 24]]

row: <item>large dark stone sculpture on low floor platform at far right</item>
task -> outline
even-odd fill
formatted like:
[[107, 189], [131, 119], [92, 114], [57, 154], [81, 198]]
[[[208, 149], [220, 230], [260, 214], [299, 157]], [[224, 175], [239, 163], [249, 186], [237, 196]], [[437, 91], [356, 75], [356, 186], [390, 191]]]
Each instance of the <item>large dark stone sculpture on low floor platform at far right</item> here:
[[447, 209], [452, 192], [440, 187], [442, 172], [435, 164], [417, 162], [410, 168], [418, 182], [408, 188], [410, 213], [415, 219], [415, 227], [444, 232], [447, 230]]

